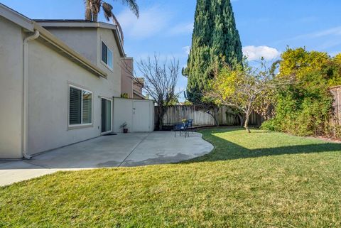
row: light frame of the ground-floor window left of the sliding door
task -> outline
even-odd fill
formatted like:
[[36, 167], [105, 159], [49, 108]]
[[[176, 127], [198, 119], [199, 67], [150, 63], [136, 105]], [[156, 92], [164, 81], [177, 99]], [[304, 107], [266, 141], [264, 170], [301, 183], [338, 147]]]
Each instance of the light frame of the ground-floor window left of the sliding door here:
[[[81, 124], [70, 124], [70, 88], [79, 89], [81, 91], [81, 100], [80, 100], [80, 122]], [[91, 94], [91, 123], [82, 124], [83, 122], [83, 91], [89, 92]], [[82, 87], [78, 87], [75, 85], [69, 84], [67, 86], [67, 129], [79, 129], [85, 127], [91, 127], [94, 124], [94, 93], [89, 89], [84, 89]]]

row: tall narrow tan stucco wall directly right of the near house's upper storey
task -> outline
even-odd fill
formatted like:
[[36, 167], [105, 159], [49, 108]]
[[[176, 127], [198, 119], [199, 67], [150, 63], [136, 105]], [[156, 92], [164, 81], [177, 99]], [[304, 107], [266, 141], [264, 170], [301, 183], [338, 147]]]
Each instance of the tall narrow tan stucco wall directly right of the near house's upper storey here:
[[121, 94], [126, 93], [129, 98], [133, 98], [133, 79], [131, 78], [133, 72], [133, 59], [124, 58], [121, 60]]

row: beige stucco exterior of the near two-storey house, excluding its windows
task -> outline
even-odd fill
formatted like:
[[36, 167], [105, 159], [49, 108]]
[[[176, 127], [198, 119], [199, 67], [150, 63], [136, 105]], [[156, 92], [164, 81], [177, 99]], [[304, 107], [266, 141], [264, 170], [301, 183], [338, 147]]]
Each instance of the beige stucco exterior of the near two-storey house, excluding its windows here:
[[[121, 94], [124, 52], [112, 26], [67, 29], [49, 32], [0, 4], [0, 158], [22, 158], [24, 144], [33, 155], [101, 136], [101, 99]], [[35, 31], [39, 36], [28, 41], [24, 55], [23, 40]], [[112, 50], [113, 69], [101, 61], [102, 40]], [[92, 92], [90, 126], [68, 125], [69, 85]], [[28, 116], [26, 124], [23, 116]]]

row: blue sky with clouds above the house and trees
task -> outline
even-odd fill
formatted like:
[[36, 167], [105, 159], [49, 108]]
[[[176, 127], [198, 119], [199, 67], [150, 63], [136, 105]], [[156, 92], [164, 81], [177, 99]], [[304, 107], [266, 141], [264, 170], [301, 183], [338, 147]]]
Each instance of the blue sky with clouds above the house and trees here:
[[[139, 20], [111, 1], [124, 29], [124, 48], [136, 60], [158, 53], [186, 64], [193, 31], [195, 0], [137, 0]], [[0, 0], [29, 18], [83, 18], [83, 0]], [[232, 0], [244, 53], [251, 60], [278, 58], [286, 46], [341, 52], [340, 0]], [[100, 17], [104, 21], [103, 17]], [[178, 89], [187, 80], [180, 76]]]

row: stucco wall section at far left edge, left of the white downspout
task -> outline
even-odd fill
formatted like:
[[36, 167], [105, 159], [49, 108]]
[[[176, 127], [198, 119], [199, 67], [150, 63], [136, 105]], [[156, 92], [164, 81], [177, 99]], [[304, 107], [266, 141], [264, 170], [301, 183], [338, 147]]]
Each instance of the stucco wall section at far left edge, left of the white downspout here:
[[0, 16], [0, 158], [21, 158], [23, 34]]

